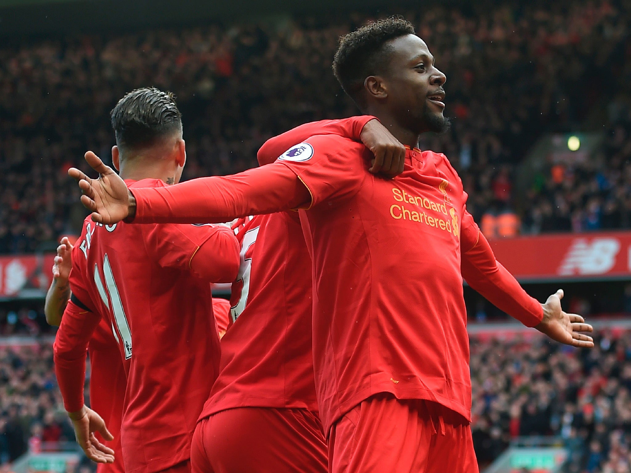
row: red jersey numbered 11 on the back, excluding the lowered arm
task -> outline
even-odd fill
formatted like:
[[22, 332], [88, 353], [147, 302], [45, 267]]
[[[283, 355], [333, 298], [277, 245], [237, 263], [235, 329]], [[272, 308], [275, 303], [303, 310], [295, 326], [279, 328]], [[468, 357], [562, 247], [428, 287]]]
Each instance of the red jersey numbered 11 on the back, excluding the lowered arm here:
[[[156, 179], [127, 184], [166, 185]], [[124, 359], [121, 441], [127, 473], [163, 470], [190, 457], [192, 433], [220, 358], [211, 288], [192, 274], [190, 264], [218, 231], [231, 230], [102, 226], [88, 217], [74, 246], [71, 290], [115, 327]]]

